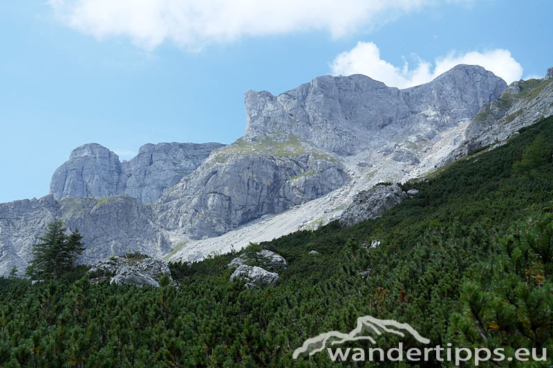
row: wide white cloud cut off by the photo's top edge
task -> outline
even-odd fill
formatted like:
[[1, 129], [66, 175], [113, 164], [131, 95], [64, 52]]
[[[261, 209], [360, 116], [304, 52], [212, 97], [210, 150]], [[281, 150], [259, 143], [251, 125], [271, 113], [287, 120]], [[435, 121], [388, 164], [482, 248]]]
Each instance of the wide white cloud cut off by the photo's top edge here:
[[[453, 1], [453, 0], [450, 0]], [[474, 0], [453, 2], [471, 3]], [[435, 0], [48, 0], [64, 23], [100, 39], [130, 37], [153, 49], [169, 40], [186, 48], [244, 36], [326, 30], [332, 37], [382, 26]]]

